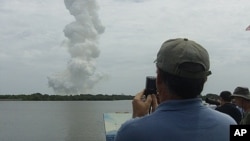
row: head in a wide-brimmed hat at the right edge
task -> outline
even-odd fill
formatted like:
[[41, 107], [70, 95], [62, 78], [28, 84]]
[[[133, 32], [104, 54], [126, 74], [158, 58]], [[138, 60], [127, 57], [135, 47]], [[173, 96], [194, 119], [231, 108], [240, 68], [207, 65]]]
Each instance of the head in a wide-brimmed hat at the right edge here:
[[250, 92], [247, 87], [235, 88], [231, 97], [234, 99], [234, 103], [244, 110], [250, 106]]

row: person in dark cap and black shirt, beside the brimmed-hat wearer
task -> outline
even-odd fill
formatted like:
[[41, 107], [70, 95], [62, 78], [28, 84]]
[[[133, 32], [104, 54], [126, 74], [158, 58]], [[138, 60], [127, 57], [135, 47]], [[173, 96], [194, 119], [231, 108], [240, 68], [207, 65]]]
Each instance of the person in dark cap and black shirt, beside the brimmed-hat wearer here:
[[239, 124], [242, 118], [241, 111], [232, 103], [231, 95], [230, 91], [222, 91], [220, 93], [220, 106], [216, 107], [215, 110], [230, 115]]

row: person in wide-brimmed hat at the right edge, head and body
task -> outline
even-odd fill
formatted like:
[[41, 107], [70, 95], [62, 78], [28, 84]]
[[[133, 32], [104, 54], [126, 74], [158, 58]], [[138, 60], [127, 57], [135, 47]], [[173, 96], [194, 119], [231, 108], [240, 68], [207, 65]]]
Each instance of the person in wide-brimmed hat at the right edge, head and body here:
[[250, 93], [247, 87], [237, 87], [234, 89], [232, 98], [236, 105], [244, 110], [244, 115], [240, 121], [241, 125], [250, 124]]

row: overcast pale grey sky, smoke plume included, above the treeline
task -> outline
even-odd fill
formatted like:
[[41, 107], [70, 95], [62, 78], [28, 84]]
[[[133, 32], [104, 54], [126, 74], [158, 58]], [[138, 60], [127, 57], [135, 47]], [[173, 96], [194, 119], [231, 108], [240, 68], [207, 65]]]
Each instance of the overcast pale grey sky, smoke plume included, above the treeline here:
[[248, 0], [0, 0], [0, 94], [135, 95], [172, 38], [209, 52], [202, 95], [250, 87], [249, 7]]

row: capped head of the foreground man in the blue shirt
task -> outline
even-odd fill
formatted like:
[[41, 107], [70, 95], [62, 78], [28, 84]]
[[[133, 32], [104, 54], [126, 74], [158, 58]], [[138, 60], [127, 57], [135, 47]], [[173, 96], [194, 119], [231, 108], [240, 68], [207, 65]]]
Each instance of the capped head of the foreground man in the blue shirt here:
[[166, 96], [161, 93], [179, 99], [197, 97], [203, 90], [207, 76], [211, 74], [206, 49], [185, 38], [165, 41], [155, 62], [160, 101], [164, 101]]

